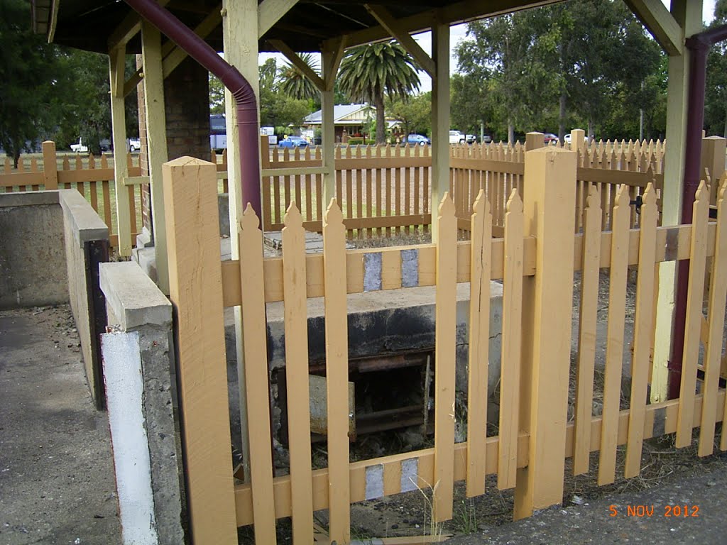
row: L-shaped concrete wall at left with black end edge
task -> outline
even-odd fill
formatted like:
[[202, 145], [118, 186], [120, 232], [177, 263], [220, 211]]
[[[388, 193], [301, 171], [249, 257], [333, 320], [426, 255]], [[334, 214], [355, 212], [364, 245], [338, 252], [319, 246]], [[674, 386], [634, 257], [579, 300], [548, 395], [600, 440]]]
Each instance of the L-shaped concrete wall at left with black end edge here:
[[0, 308], [70, 302], [89, 389], [103, 408], [98, 263], [108, 261], [108, 227], [76, 190], [33, 191], [0, 195], [0, 233]]

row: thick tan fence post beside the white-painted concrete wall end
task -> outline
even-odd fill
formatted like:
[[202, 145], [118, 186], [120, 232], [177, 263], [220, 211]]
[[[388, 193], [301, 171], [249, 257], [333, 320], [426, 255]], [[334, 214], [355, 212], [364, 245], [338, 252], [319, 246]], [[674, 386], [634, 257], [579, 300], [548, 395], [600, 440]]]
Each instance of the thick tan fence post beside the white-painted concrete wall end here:
[[164, 163], [163, 172], [192, 538], [195, 544], [237, 543], [217, 171], [207, 161], [181, 157]]

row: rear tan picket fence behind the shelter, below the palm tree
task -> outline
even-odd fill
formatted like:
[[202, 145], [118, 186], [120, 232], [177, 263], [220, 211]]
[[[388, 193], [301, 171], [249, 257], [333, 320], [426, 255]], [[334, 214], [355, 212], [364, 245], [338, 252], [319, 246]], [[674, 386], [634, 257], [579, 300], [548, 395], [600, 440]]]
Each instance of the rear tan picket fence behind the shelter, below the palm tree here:
[[[539, 142], [539, 145], [543, 145]], [[262, 158], [262, 215], [265, 231], [283, 228], [283, 216], [295, 202], [300, 206], [303, 226], [310, 231], [322, 230], [323, 203], [321, 174], [294, 174], [295, 169], [320, 167], [321, 148], [270, 148], [268, 138], [260, 140]], [[560, 145], [552, 145], [560, 148]], [[589, 184], [598, 186], [603, 202], [611, 207], [603, 210], [602, 227], [610, 226], [608, 214], [614, 203], [616, 187], [630, 186], [635, 201], [653, 183], [657, 190], [663, 184], [663, 142], [581, 142], [577, 176], [577, 213], [574, 227], [582, 230]], [[489, 199], [494, 234], [502, 236], [505, 207], [513, 188], [521, 189], [526, 146], [497, 144], [453, 145], [450, 147], [449, 191], [454, 199], [460, 238], [467, 237], [472, 206], [479, 190]], [[428, 146], [357, 146], [336, 148], [335, 195], [340, 203], [347, 236], [371, 238], [392, 233], [427, 232], [431, 224], [430, 166]], [[222, 190], [227, 191], [227, 153], [218, 161], [217, 176]], [[279, 173], [279, 174], [278, 174]], [[268, 175], [266, 175], [268, 174]], [[660, 193], [660, 192], [658, 192]], [[658, 199], [657, 199], [658, 200]], [[638, 214], [632, 214], [632, 226]]]

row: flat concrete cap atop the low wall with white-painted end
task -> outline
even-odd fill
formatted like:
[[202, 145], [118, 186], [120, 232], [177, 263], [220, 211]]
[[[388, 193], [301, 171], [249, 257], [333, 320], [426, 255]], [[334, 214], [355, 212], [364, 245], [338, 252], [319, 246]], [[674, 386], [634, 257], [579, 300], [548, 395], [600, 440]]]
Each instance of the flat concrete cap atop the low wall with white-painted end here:
[[124, 331], [169, 327], [172, 303], [136, 262], [100, 264], [101, 291]]

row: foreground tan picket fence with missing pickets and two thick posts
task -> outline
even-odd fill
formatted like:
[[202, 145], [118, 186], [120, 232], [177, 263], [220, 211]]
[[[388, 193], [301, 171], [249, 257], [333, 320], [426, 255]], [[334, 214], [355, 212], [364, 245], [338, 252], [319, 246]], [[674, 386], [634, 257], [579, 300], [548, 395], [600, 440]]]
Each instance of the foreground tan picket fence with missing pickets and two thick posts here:
[[[335, 199], [322, 218], [323, 254], [305, 254], [305, 215], [292, 203], [283, 219], [283, 255], [263, 259], [260, 220], [246, 209], [238, 231], [244, 261], [220, 264], [214, 222], [214, 167], [167, 163], [164, 170], [169, 233], [170, 298], [177, 311], [180, 405], [185, 475], [196, 543], [236, 543], [236, 528], [254, 525], [258, 544], [276, 542], [276, 519], [292, 517], [293, 542], [313, 541], [313, 512], [329, 509], [329, 538], [350, 541], [350, 504], [404, 491], [429, 489], [435, 521], [453, 513], [455, 481], [467, 496], [481, 495], [486, 475], [501, 490], [515, 488], [515, 518], [560, 504], [565, 459], [576, 475], [589, 472], [599, 453], [598, 483], [616, 478], [617, 448], [626, 445], [624, 476], [640, 472], [643, 441], [676, 432], [679, 447], [699, 431], [699, 456], [712, 453], [715, 423], [726, 418], [719, 387], [723, 359], [727, 275], [712, 274], [702, 313], [707, 257], [712, 270], [727, 267], [727, 178], [718, 199], [718, 222], [708, 219], [704, 182], [693, 225], [658, 226], [656, 188], [643, 191], [638, 229], [632, 229], [629, 185], [602, 198], [589, 183], [582, 233], [574, 233], [577, 156], [557, 149], [525, 153], [523, 199], [515, 187], [504, 211], [504, 238], [492, 238], [493, 211], [479, 190], [470, 216], [470, 241], [457, 241], [458, 219], [447, 195], [438, 207], [431, 244], [345, 249], [345, 214]], [[192, 197], [190, 198], [190, 195]], [[603, 209], [611, 230], [603, 231]], [[403, 263], [416, 262], [416, 280]], [[649, 404], [647, 385], [654, 339], [654, 296], [660, 262], [690, 259], [688, 317], [683, 332], [681, 396]], [[631, 396], [620, 403], [627, 270], [638, 268]], [[609, 270], [608, 332], [603, 413], [593, 414], [599, 270]], [[578, 354], [571, 362], [574, 273], [579, 294]], [[364, 276], [380, 279], [371, 286]], [[490, 280], [503, 284], [499, 435], [487, 436]], [[470, 283], [467, 441], [455, 443], [457, 283]], [[349, 461], [347, 294], [436, 286], [435, 443], [433, 448]], [[328, 467], [311, 469], [308, 413], [307, 299], [325, 299]], [[265, 304], [285, 307], [286, 392], [290, 474], [273, 477]], [[251, 479], [234, 485], [225, 371], [223, 307], [241, 306]], [[703, 353], [699, 350], [700, 334]], [[680, 334], [679, 332], [677, 334]], [[699, 394], [697, 370], [704, 371]], [[569, 379], [576, 392], [569, 399]], [[244, 380], [242, 380], [244, 379]], [[574, 404], [574, 418], [567, 416]], [[727, 434], [720, 448], [727, 449]]]

